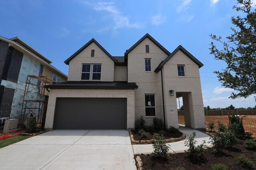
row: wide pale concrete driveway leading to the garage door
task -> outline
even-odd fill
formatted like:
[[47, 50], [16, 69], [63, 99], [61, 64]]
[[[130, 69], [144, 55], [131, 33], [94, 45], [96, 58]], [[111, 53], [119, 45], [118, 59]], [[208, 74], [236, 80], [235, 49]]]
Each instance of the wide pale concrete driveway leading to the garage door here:
[[128, 131], [49, 131], [0, 149], [0, 169], [136, 170]]

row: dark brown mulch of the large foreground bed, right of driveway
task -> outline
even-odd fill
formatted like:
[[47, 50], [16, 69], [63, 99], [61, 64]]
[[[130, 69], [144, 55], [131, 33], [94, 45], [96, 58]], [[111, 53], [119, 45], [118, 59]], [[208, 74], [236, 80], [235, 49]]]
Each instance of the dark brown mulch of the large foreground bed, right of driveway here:
[[247, 150], [244, 145], [245, 140], [240, 140], [240, 144], [235, 145], [232, 149], [223, 149], [222, 154], [213, 152], [214, 147], [204, 150], [204, 162], [193, 162], [186, 153], [170, 154], [167, 159], [157, 158], [153, 154], [139, 155], [142, 160], [143, 170], [165, 170], [182, 166], [186, 170], [210, 170], [213, 164], [222, 163], [228, 166], [230, 170], [245, 170], [242, 168], [236, 157], [240, 154], [245, 154], [247, 158], [256, 163], [256, 151]]

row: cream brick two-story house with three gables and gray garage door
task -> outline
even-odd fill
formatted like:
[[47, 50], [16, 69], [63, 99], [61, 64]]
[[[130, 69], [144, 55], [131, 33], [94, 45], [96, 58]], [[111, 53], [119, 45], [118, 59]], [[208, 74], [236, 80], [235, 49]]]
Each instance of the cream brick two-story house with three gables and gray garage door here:
[[50, 89], [48, 129], [134, 129], [141, 115], [178, 128], [176, 98], [183, 98], [186, 126], [205, 129], [199, 68], [182, 46], [172, 53], [148, 33], [124, 56], [110, 55], [95, 39], [64, 63], [68, 81]]

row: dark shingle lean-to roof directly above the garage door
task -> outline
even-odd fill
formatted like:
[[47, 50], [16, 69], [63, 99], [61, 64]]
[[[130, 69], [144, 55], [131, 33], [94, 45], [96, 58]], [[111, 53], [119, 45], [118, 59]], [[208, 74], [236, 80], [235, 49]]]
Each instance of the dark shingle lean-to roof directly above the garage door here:
[[68, 81], [44, 86], [50, 89], [137, 89], [136, 83], [126, 81], [98, 82], [98, 81]]

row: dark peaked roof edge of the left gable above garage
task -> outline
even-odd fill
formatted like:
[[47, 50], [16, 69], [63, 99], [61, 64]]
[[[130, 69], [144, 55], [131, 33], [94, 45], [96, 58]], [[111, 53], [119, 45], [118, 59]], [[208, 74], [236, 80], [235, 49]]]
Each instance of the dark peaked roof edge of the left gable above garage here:
[[78, 51], [76, 51], [76, 53], [74, 53], [72, 56], [66, 59], [64, 63], [68, 65], [69, 62], [72, 59], [74, 59], [74, 57], [76, 57], [79, 53], [81, 53], [84, 49], [86, 49], [86, 47], [88, 47], [91, 43], [95, 43], [104, 53], [106, 53], [106, 55], [108, 55], [108, 57], [110, 57], [110, 59], [114, 61], [114, 63], [117, 63], [116, 59], [114, 59], [114, 57], [112, 57], [112, 55], [110, 55], [110, 53], [108, 53], [108, 51], [106, 51], [94, 38], [92, 38], [90, 41], [88, 41], [88, 43], [86, 43], [83, 47], [81, 47]]

